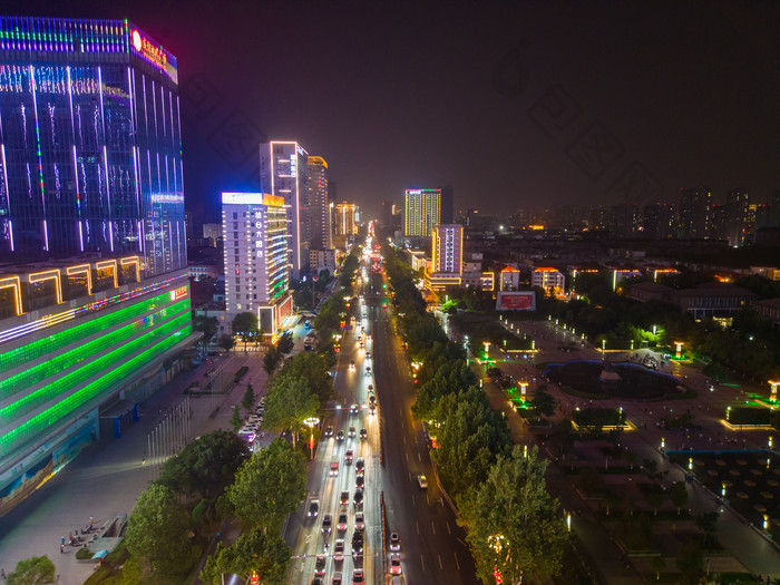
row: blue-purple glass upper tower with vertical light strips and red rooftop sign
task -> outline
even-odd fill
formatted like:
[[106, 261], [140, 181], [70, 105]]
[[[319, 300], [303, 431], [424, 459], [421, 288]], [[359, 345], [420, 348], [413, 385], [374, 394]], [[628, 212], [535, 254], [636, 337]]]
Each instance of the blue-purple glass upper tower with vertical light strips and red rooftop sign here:
[[0, 17], [0, 257], [184, 269], [176, 58], [127, 20]]

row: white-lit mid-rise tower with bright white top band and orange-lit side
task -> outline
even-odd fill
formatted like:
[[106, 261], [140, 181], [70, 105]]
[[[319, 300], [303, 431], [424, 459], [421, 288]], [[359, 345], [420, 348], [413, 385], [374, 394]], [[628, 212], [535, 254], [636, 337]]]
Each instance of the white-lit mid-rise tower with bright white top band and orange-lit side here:
[[263, 193], [223, 193], [225, 310], [257, 315], [265, 335], [292, 313], [287, 264], [287, 205]]

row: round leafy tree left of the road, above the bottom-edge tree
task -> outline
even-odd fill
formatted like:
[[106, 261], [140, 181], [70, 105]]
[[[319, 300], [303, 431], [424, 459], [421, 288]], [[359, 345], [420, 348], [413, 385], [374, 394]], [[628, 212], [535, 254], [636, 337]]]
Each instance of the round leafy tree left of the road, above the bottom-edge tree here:
[[306, 459], [284, 439], [255, 452], [238, 470], [227, 499], [245, 527], [281, 529], [284, 517], [305, 497]]

